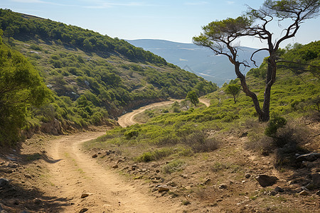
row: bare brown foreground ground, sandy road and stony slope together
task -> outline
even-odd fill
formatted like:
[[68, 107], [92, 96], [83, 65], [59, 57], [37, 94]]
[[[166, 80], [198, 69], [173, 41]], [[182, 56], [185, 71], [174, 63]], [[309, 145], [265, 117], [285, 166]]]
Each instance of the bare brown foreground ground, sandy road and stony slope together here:
[[[310, 125], [319, 144], [319, 124]], [[209, 132], [221, 141], [216, 151], [137, 163], [117, 148], [81, 148], [102, 133], [38, 135], [2, 149], [0, 212], [320, 211], [319, 147], [295, 156], [294, 168], [275, 168], [273, 153], [243, 148], [245, 132]]]

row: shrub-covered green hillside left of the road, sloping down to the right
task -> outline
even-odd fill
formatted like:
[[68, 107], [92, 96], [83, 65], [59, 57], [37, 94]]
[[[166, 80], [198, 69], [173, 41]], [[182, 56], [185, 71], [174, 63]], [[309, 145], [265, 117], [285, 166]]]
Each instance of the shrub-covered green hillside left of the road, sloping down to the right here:
[[[142, 104], [218, 88], [124, 40], [76, 26], [4, 9], [0, 26], [4, 43], [28, 58], [53, 92], [50, 104], [28, 107], [25, 129], [63, 133], [110, 124]], [[57, 128], [43, 128], [57, 121]]]

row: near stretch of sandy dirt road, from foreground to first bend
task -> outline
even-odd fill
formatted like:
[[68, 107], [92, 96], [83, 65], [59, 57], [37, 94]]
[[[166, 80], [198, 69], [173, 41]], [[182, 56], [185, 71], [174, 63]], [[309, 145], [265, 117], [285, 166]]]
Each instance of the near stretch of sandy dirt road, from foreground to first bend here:
[[[50, 142], [47, 153], [55, 160], [48, 165], [51, 185], [56, 187], [52, 193], [70, 199], [70, 205], [63, 207], [64, 212], [80, 212], [85, 208], [87, 212], [176, 212], [173, 204], [159, 203], [147, 191], [106, 170], [82, 151], [83, 142], [104, 133], [80, 133]], [[89, 196], [80, 198], [84, 193]]]

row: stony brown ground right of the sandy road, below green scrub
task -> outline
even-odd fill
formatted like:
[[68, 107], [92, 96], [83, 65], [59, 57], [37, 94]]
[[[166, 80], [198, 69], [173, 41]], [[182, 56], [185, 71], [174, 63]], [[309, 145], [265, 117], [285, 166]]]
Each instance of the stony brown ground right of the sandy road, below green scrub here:
[[[117, 150], [90, 153], [101, 164], [149, 187], [154, 197], [169, 197], [181, 212], [319, 212], [320, 155], [297, 155], [299, 168], [274, 168], [274, 155], [244, 150], [247, 137], [221, 136], [223, 147], [212, 153], [149, 163], [127, 160]], [[168, 211], [171, 212], [171, 211]]]

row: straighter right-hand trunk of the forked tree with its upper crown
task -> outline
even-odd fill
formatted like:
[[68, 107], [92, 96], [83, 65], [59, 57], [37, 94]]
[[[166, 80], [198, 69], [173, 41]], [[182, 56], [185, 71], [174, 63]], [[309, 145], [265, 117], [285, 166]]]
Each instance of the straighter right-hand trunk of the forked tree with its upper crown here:
[[[260, 9], [252, 9], [249, 7], [247, 15], [257, 22], [255, 26], [251, 27], [251, 33], [254, 32], [253, 34], [261, 40], [267, 40], [267, 48], [257, 50], [255, 53], [261, 50], [267, 50], [269, 53], [262, 114], [259, 117], [260, 121], [269, 121], [270, 119], [271, 87], [276, 80], [277, 51], [279, 50], [280, 43], [289, 38], [293, 38], [306, 19], [319, 16], [319, 6], [319, 0], [266, 0]], [[267, 29], [268, 24], [274, 20], [278, 21], [279, 25], [280, 23], [289, 23], [282, 31], [282, 35], [276, 39], [273, 38], [274, 33]], [[255, 55], [255, 53], [253, 53], [252, 56]]]

